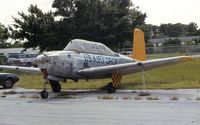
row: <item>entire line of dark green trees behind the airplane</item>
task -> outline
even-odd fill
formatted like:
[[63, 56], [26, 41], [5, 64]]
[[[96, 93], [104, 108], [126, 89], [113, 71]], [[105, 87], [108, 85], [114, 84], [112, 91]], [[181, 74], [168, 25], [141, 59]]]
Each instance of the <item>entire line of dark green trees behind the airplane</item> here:
[[[140, 27], [150, 38], [199, 35], [196, 23], [145, 24], [146, 13], [131, 0], [54, 0], [55, 11], [43, 12], [30, 5], [28, 13], [18, 12], [14, 23], [0, 25], [0, 47], [7, 47], [8, 38], [15, 46], [39, 47], [40, 51], [63, 49], [75, 38], [102, 42], [111, 49], [130, 45], [132, 29]], [[21, 43], [23, 41], [23, 43]]]

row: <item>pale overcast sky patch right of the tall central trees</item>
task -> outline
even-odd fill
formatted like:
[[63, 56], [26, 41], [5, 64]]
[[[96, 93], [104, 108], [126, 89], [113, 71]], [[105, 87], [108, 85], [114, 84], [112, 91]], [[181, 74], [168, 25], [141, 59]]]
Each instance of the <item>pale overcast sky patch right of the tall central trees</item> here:
[[147, 13], [146, 22], [161, 23], [196, 22], [200, 27], [199, 0], [132, 0], [142, 12]]

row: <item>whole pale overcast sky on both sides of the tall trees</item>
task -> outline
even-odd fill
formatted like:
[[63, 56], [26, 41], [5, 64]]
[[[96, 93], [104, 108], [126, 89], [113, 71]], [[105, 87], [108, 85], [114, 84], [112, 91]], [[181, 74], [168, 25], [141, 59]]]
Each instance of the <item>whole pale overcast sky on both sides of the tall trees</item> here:
[[[139, 10], [147, 13], [146, 23], [196, 22], [200, 27], [199, 0], [132, 0]], [[0, 0], [0, 22], [12, 23], [18, 11], [27, 12], [30, 4], [37, 4], [43, 11], [51, 9], [53, 0]]]

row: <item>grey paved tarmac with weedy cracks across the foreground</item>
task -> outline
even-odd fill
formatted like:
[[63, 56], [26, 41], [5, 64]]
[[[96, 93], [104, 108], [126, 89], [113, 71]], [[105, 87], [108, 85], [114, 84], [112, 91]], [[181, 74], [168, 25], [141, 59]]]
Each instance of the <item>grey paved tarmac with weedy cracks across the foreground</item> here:
[[199, 125], [200, 90], [66, 90], [39, 98], [38, 90], [0, 90], [0, 125]]

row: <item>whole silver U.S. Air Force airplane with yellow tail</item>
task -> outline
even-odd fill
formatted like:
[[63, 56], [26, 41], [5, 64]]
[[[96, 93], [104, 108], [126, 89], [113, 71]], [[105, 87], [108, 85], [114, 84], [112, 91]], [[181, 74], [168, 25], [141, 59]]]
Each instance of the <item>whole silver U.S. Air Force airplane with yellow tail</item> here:
[[113, 93], [124, 75], [192, 59], [191, 56], [176, 56], [146, 60], [144, 33], [138, 28], [133, 32], [133, 54], [129, 56], [115, 53], [102, 43], [74, 39], [62, 51], [51, 51], [37, 56], [38, 68], [0, 65], [0, 69], [42, 73], [44, 90], [41, 98], [45, 99], [48, 98], [47, 83], [50, 83], [53, 92], [59, 93], [60, 81], [111, 78], [107, 91]]

